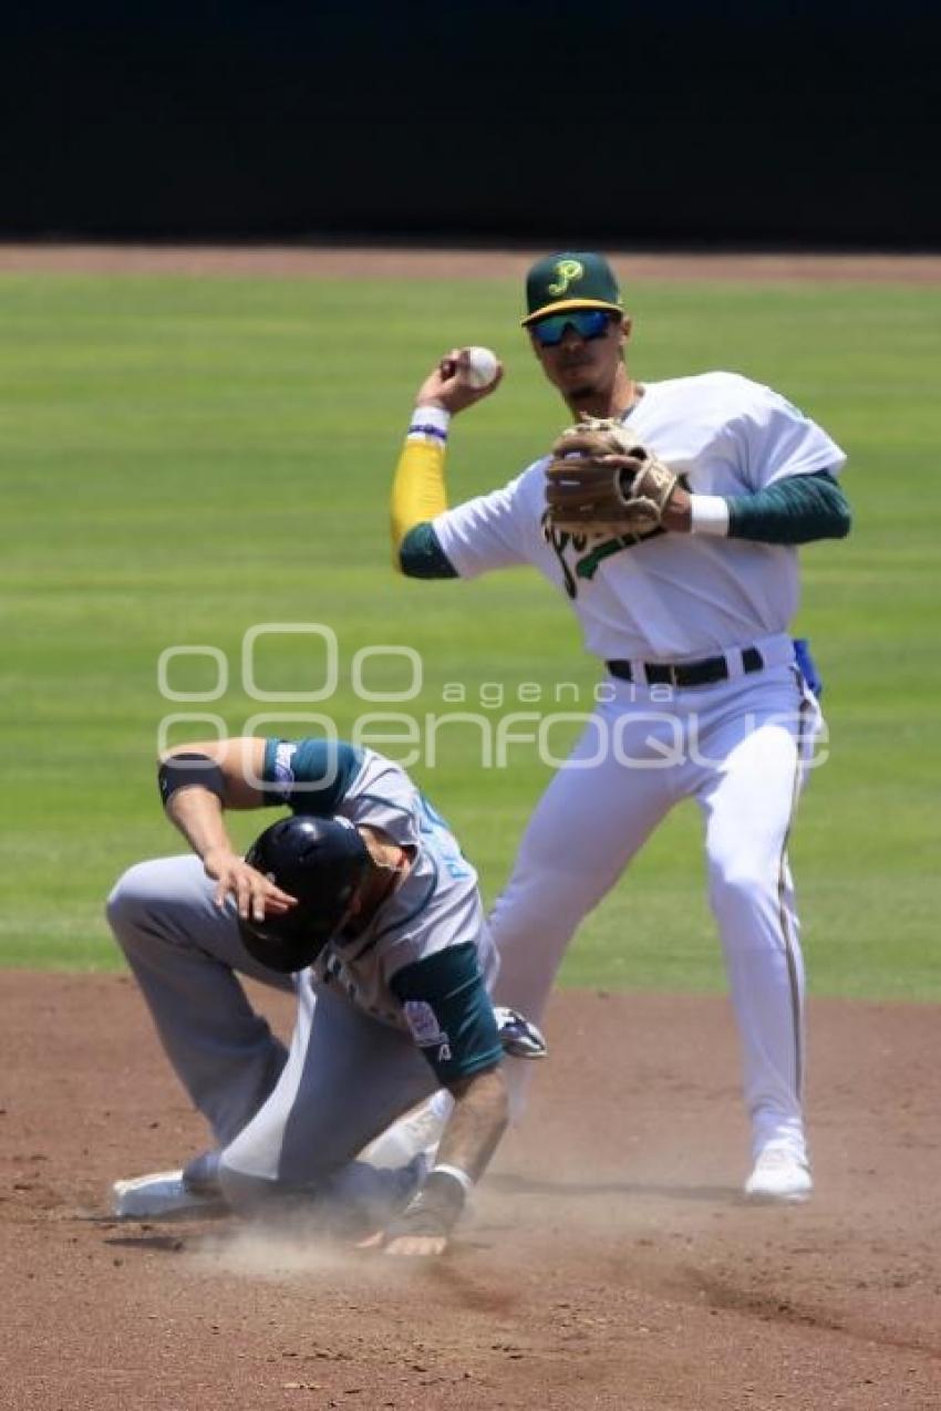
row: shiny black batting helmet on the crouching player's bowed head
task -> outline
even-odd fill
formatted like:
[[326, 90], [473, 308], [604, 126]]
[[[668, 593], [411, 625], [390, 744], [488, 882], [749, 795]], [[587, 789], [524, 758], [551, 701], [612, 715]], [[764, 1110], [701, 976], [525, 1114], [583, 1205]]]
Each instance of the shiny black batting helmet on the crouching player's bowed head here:
[[238, 926], [245, 950], [269, 969], [299, 971], [317, 958], [370, 872], [372, 859], [346, 818], [279, 818], [255, 838], [245, 862], [298, 904], [264, 921]]

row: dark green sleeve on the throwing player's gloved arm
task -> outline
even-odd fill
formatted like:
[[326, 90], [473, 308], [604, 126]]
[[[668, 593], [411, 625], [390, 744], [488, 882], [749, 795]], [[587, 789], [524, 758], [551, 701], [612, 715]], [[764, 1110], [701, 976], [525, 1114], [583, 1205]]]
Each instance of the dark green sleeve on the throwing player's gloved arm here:
[[732, 495], [727, 504], [729, 539], [759, 543], [845, 539], [852, 523], [849, 502], [827, 470], [790, 476], [753, 495]]

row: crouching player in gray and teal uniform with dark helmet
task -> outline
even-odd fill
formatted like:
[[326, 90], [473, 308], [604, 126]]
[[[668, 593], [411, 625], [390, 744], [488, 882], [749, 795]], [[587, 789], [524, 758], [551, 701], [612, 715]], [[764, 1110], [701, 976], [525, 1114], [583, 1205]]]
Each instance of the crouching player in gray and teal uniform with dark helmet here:
[[[213, 1149], [117, 1182], [116, 1212], [310, 1212], [317, 1197], [385, 1225], [388, 1253], [442, 1253], [505, 1126], [504, 1048], [540, 1050], [519, 1016], [498, 1031], [473, 866], [408, 775], [370, 749], [210, 741], [172, 751], [159, 783], [192, 854], [130, 868], [109, 920]], [[291, 817], [243, 858], [224, 810], [265, 806]], [[296, 992], [289, 1050], [238, 974]], [[430, 1173], [396, 1140], [387, 1170], [382, 1133], [442, 1091], [425, 1134], [420, 1122], [405, 1133], [418, 1156], [447, 1119]]]

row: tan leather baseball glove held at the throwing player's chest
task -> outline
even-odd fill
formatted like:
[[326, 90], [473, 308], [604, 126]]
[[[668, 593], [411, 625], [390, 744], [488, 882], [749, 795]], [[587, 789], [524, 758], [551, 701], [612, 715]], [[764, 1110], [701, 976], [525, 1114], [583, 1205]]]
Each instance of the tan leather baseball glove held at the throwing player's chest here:
[[643, 539], [662, 528], [679, 483], [680, 477], [624, 422], [585, 418], [552, 447], [549, 521], [566, 533]]

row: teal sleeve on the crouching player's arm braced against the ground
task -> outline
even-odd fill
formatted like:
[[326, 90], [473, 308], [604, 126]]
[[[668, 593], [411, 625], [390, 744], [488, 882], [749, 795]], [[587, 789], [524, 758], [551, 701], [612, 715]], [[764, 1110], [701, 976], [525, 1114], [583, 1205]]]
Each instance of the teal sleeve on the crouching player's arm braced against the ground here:
[[470, 941], [405, 965], [392, 975], [389, 989], [444, 1086], [501, 1061], [494, 1006]]

